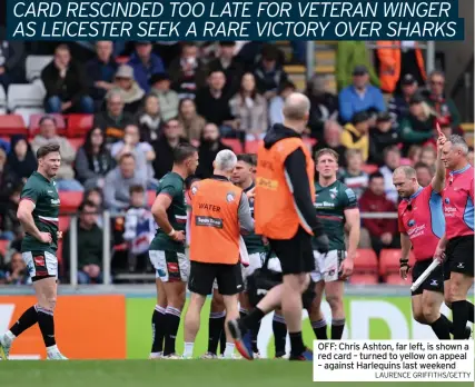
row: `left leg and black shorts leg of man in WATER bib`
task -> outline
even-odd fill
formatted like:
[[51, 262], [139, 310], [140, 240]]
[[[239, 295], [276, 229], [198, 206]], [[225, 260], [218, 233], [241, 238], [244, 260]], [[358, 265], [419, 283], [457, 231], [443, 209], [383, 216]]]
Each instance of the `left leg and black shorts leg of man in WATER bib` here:
[[191, 292], [188, 310], [185, 316], [185, 351], [184, 358], [191, 358], [196, 335], [199, 330], [200, 314], [206, 297], [212, 292], [216, 278], [214, 265], [191, 261], [188, 289]]

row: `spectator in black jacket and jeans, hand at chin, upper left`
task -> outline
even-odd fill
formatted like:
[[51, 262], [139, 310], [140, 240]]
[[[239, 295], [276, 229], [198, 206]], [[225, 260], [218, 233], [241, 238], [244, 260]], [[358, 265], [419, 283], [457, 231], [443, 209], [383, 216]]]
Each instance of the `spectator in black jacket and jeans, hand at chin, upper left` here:
[[68, 46], [59, 44], [55, 59], [41, 71], [47, 90], [44, 109], [49, 113], [93, 113], [95, 105], [88, 96], [88, 81], [82, 66], [71, 60]]

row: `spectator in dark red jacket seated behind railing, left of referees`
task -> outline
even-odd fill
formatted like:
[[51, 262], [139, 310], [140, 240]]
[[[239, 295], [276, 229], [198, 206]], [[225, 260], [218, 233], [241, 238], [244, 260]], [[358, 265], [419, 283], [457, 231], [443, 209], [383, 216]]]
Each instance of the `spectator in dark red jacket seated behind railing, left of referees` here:
[[[359, 199], [362, 212], [396, 212], [396, 205], [386, 199], [384, 194], [384, 177], [379, 172], [369, 176], [369, 187]], [[363, 219], [363, 227], [369, 231], [372, 246], [376, 255], [384, 248], [399, 248], [396, 219]]]

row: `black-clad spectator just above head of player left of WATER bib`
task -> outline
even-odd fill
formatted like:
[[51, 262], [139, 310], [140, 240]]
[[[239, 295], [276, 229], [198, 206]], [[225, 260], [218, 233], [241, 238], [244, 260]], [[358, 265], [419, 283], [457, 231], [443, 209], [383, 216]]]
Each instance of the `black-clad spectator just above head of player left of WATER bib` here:
[[155, 178], [161, 179], [174, 167], [174, 149], [184, 142], [188, 142], [181, 137], [184, 128], [177, 118], [168, 120], [164, 126], [164, 133], [152, 143], [155, 153], [154, 161]]

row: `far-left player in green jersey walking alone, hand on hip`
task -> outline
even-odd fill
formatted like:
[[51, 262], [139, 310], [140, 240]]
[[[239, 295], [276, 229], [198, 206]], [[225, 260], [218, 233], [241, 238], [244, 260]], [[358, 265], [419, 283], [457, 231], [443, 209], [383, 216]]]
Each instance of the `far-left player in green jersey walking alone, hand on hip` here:
[[38, 322], [47, 347], [47, 358], [66, 360], [55, 338], [57, 297], [59, 195], [53, 180], [61, 165], [59, 145], [47, 145], [37, 151], [38, 170], [28, 179], [21, 192], [18, 219], [26, 231], [21, 255], [27, 265], [38, 304], [21, 315], [6, 334], [0, 336], [0, 357], [8, 359], [13, 340]]

